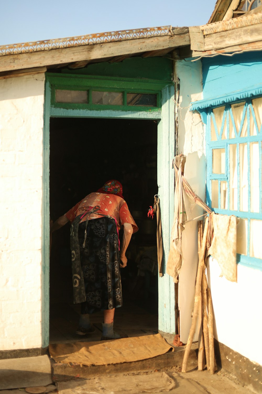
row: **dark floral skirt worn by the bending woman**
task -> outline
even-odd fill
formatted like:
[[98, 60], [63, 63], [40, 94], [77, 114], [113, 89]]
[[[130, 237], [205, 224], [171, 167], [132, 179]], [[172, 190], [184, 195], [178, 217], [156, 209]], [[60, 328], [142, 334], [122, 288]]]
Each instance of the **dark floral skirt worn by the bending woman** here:
[[81, 314], [122, 306], [120, 255], [116, 224], [109, 217], [78, 225], [80, 262], [85, 286]]

